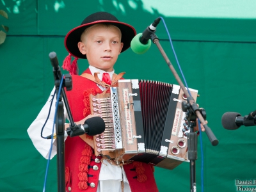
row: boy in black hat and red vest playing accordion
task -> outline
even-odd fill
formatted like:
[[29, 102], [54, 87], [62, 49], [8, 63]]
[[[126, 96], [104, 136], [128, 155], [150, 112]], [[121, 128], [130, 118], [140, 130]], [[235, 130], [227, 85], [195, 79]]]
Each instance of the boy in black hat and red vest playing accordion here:
[[[122, 74], [115, 74], [113, 66], [120, 52], [130, 47], [135, 35], [136, 31], [132, 26], [119, 22], [115, 16], [106, 12], [89, 15], [81, 26], [68, 32], [65, 47], [70, 54], [65, 58], [63, 68], [73, 75], [73, 88], [67, 92], [67, 98], [76, 124], [84, 124], [84, 120], [91, 117], [89, 95], [108, 91], [106, 88], [110, 84], [113, 86], [122, 78]], [[71, 56], [75, 60], [70, 66]], [[81, 76], [76, 75], [77, 58], [87, 59], [90, 65]], [[49, 156], [51, 142], [40, 138], [40, 131], [51, 99], [50, 97], [28, 129], [33, 144], [45, 158]], [[54, 110], [45, 125], [44, 135], [51, 134], [53, 113]], [[56, 154], [55, 145], [51, 158]], [[151, 165], [133, 162], [119, 166], [109, 164], [106, 160], [101, 163], [101, 157], [94, 156], [92, 147], [92, 137], [86, 134], [65, 140], [67, 191], [158, 191]]]

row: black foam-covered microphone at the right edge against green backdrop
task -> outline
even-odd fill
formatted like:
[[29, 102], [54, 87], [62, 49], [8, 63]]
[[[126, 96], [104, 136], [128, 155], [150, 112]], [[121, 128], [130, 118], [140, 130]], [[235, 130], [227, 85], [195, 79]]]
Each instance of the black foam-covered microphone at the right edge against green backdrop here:
[[241, 116], [236, 112], [227, 112], [222, 115], [221, 124], [225, 129], [238, 129], [241, 125], [253, 126], [256, 125], [255, 117], [252, 115]]

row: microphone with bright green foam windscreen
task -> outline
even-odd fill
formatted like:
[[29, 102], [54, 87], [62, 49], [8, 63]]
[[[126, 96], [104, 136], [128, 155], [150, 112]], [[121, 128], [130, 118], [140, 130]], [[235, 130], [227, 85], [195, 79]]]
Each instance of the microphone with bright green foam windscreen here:
[[161, 18], [157, 17], [150, 26], [148, 26], [143, 33], [139, 33], [134, 36], [131, 41], [131, 49], [137, 54], [143, 54], [148, 51], [151, 46], [151, 35], [156, 31], [156, 27], [159, 24]]

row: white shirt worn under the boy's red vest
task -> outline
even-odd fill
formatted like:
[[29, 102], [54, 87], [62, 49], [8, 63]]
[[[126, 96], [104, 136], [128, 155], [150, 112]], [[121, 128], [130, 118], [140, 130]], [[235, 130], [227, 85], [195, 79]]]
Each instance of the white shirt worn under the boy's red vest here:
[[[100, 72], [98, 74], [98, 77], [100, 80], [102, 80], [102, 74], [105, 72], [104, 70], [100, 70], [98, 68], [89, 66], [92, 74], [95, 72]], [[108, 72], [109, 76], [112, 78], [115, 70], [112, 72]], [[99, 86], [99, 85], [98, 85]], [[101, 90], [104, 90], [102, 86], [99, 86]], [[45, 124], [43, 136], [49, 136], [52, 134], [52, 128], [54, 125], [54, 113], [55, 113], [55, 104], [56, 104], [56, 96], [52, 97], [54, 94], [55, 88], [52, 90], [49, 98], [47, 99], [47, 102], [45, 103], [44, 107], [41, 109], [40, 113], [36, 117], [36, 119], [33, 121], [33, 123], [28, 128], [28, 134], [29, 138], [32, 140], [33, 145], [35, 148], [42, 154], [45, 159], [49, 158], [50, 148], [51, 148], [51, 140], [46, 140], [41, 138], [41, 130], [43, 125], [45, 124], [45, 120], [47, 119], [47, 115], [49, 113], [51, 100], [52, 102], [52, 108], [51, 113], [49, 115], [49, 119], [47, 123]], [[57, 93], [56, 93], [57, 94]], [[64, 116], [67, 118], [67, 110], [64, 108]], [[55, 129], [55, 128], [54, 128]], [[55, 132], [55, 130], [54, 130]], [[65, 134], [65, 140], [67, 138], [67, 134]], [[56, 140], [54, 139], [52, 142], [52, 152], [51, 157], [54, 157], [57, 154], [57, 147], [56, 147]], [[131, 188], [129, 186], [129, 182], [127, 180], [127, 177], [124, 172], [124, 168], [122, 166], [115, 166], [108, 163], [108, 161], [104, 160], [105, 164], [101, 165], [100, 168], [100, 174], [99, 174], [99, 185], [97, 188], [97, 192], [107, 192], [107, 191], [113, 191], [113, 192], [119, 192], [121, 190], [121, 181], [124, 180], [124, 192], [130, 192]], [[106, 165], [107, 164], [107, 165]]]

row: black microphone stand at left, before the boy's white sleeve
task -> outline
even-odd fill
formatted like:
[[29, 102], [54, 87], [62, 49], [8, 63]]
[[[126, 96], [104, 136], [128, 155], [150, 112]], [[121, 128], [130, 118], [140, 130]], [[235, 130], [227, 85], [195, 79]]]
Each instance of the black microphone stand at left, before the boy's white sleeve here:
[[[68, 105], [67, 96], [64, 90], [66, 87], [67, 91], [72, 90], [72, 77], [70, 74], [65, 74], [65, 79], [63, 79], [63, 84], [61, 84], [61, 70], [58, 64], [58, 60], [55, 52], [50, 52], [49, 58], [51, 60], [51, 64], [53, 67], [55, 88], [56, 88], [56, 99], [58, 99], [58, 92], [61, 89], [60, 97], [58, 100], [57, 116], [56, 116], [56, 140], [57, 140], [57, 172], [58, 172], [58, 192], [65, 192], [65, 142], [64, 142], [64, 134], [65, 134], [65, 118], [64, 118], [64, 106], [62, 102], [62, 97], [65, 103], [65, 107], [67, 109], [68, 118], [70, 121], [70, 127], [67, 129], [67, 134], [72, 136], [77, 136], [80, 133], [84, 134], [83, 129], [81, 129], [81, 125], [76, 125], [72, 118], [70, 107]], [[56, 101], [57, 104], [57, 101]], [[48, 138], [48, 137], [47, 137]]]

